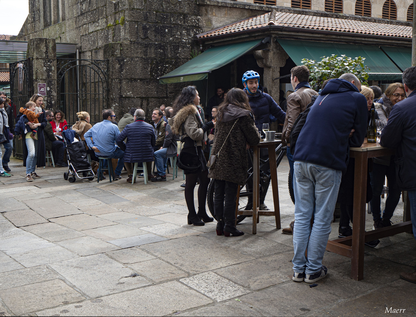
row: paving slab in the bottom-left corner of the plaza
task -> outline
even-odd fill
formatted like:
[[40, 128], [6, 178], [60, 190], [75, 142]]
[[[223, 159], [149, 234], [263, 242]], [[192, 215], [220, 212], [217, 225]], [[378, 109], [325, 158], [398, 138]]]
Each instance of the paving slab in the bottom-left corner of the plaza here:
[[0, 291], [0, 297], [15, 315], [23, 315], [85, 297], [62, 280], [50, 280]]

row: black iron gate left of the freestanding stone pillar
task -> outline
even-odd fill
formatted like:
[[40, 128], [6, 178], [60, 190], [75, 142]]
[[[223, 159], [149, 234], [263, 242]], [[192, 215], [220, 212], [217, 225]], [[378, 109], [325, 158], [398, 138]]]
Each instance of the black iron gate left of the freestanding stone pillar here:
[[[33, 94], [32, 85], [32, 59], [17, 61], [10, 64], [10, 101], [12, 103], [13, 123], [19, 114], [20, 107], [25, 107], [27, 101]], [[23, 143], [18, 140], [19, 136], [13, 138], [13, 157], [23, 159]]]

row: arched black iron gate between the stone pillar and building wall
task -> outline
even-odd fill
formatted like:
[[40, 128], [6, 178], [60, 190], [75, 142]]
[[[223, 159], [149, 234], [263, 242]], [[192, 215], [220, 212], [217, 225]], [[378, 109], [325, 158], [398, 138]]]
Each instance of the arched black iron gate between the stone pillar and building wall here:
[[101, 121], [108, 105], [108, 61], [57, 58], [58, 107], [67, 123], [74, 124], [77, 112], [87, 111], [90, 123]]

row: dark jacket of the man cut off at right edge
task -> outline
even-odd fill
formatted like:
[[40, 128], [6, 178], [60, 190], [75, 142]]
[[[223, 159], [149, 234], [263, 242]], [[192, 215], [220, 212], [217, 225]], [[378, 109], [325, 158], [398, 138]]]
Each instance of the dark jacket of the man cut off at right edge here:
[[416, 190], [416, 90], [391, 109], [380, 145], [396, 147], [396, 182], [402, 190]]

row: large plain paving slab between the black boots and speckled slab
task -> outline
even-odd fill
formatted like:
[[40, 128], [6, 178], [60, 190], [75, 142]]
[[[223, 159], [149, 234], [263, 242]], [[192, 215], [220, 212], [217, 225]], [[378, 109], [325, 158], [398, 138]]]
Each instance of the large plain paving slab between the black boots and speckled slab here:
[[191, 274], [254, 259], [201, 236], [187, 236], [141, 248]]

